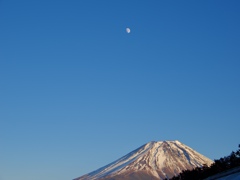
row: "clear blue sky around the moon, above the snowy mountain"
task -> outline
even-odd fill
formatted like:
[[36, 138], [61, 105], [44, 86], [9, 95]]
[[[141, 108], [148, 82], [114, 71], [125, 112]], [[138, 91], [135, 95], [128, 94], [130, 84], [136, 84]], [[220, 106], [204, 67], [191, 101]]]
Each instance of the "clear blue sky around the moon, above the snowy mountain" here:
[[152, 140], [236, 150], [239, 8], [0, 0], [0, 180], [73, 179]]

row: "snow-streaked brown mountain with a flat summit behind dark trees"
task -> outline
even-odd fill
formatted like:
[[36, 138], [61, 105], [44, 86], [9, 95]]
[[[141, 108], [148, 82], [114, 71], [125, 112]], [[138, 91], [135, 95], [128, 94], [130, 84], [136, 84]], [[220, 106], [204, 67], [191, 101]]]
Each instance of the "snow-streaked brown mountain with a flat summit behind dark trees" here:
[[212, 163], [179, 141], [153, 141], [74, 180], [161, 180]]

